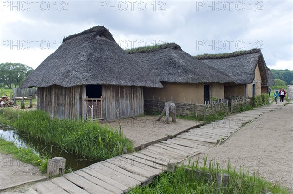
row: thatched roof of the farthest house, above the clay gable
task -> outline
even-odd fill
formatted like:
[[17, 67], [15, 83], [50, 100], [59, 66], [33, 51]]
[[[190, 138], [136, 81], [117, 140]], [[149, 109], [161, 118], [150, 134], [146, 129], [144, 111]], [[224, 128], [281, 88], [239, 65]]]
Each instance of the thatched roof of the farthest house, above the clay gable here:
[[195, 56], [195, 58], [226, 72], [234, 78], [237, 84], [252, 83], [258, 64], [262, 85], [266, 85], [268, 82], [267, 66], [260, 49], [224, 54], [204, 54]]

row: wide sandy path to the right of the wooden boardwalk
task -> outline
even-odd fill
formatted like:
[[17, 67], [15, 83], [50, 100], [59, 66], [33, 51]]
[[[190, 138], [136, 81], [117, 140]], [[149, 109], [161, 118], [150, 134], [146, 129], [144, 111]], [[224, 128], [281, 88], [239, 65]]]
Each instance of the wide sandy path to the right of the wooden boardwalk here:
[[265, 113], [258, 119], [223, 144], [192, 159], [199, 159], [202, 165], [208, 155], [208, 161], [219, 163], [224, 169], [228, 162], [236, 168], [241, 165], [251, 174], [259, 172], [265, 179], [293, 191], [293, 105]]

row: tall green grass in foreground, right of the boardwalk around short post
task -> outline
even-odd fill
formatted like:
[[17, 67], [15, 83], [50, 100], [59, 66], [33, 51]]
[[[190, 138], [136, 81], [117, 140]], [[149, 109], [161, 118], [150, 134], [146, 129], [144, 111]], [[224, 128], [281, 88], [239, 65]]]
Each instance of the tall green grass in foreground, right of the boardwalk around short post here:
[[[243, 168], [232, 170], [228, 165], [227, 170], [219, 169], [218, 165], [209, 163], [209, 167], [198, 167], [197, 163], [177, 167], [174, 173], [166, 172], [145, 187], [138, 186], [127, 194], [288, 194], [289, 192], [276, 184], [272, 184], [256, 173], [249, 176]], [[186, 170], [189, 168], [190, 170]], [[195, 173], [194, 171], [200, 172]], [[218, 173], [227, 173], [226, 187], [217, 188], [216, 176]], [[206, 176], [208, 175], [209, 176]], [[209, 178], [208, 178], [209, 177]]]

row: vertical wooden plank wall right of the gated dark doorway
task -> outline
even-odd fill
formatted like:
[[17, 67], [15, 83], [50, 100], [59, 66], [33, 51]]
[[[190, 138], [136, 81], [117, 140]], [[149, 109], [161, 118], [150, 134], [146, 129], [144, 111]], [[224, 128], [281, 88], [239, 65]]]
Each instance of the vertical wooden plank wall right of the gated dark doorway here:
[[120, 110], [121, 117], [132, 117], [144, 113], [143, 88], [138, 86], [102, 85], [103, 117], [114, 121], [115, 109]]

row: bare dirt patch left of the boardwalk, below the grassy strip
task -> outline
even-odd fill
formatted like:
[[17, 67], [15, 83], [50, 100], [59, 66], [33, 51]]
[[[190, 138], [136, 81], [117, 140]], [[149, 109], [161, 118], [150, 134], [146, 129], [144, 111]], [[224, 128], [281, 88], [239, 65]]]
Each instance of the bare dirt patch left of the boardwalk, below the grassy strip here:
[[45, 178], [47, 176], [42, 175], [38, 167], [0, 153], [0, 190]]

